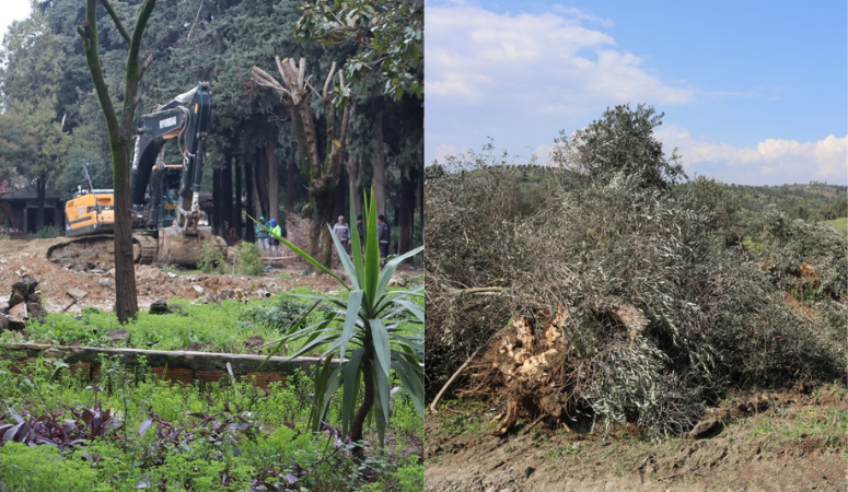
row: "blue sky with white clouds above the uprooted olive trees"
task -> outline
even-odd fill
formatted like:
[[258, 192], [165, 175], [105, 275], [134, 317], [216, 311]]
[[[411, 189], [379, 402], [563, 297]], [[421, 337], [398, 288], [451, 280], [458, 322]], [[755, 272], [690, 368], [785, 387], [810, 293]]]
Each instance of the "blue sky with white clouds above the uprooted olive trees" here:
[[607, 106], [664, 112], [689, 176], [848, 183], [844, 0], [427, 1], [427, 163], [493, 139], [546, 162]]

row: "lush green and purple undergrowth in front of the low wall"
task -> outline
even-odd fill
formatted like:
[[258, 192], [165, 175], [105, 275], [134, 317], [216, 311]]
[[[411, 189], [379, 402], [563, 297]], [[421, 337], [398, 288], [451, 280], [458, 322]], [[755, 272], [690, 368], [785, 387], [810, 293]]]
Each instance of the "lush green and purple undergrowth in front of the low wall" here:
[[8, 359], [0, 360], [0, 425], [18, 419], [73, 421], [81, 409], [106, 414], [105, 429], [91, 435], [93, 426], [77, 420], [85, 431], [73, 444], [0, 440], [0, 490], [423, 488], [423, 465], [411, 447], [423, 438], [422, 421], [403, 391], [392, 399], [395, 444], [382, 449], [367, 444], [365, 457], [356, 460], [333, 426], [338, 402], [327, 414], [330, 426], [310, 432], [309, 374], [299, 372], [268, 390], [241, 380], [200, 390], [160, 380], [143, 363], [133, 370], [108, 359], [102, 363], [98, 380], [82, 382], [61, 363], [39, 361], [16, 374]]

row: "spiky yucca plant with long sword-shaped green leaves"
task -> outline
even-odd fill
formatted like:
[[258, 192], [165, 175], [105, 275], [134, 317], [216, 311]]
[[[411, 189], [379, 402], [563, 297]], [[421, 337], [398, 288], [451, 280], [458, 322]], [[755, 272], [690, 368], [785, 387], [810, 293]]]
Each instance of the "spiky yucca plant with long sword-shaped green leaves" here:
[[[353, 209], [352, 201], [350, 208]], [[313, 429], [318, 430], [333, 397], [341, 389], [342, 433], [355, 443], [361, 441], [365, 418], [372, 413], [382, 444], [390, 420], [391, 370], [395, 370], [402, 386], [423, 418], [421, 328], [425, 313], [415, 302], [416, 297], [423, 297], [423, 285], [388, 290], [388, 281], [398, 265], [421, 253], [423, 246], [392, 259], [381, 271], [373, 190], [364, 208], [368, 224], [364, 255], [357, 227], [351, 227], [352, 259], [330, 230], [349, 283], [283, 237], [276, 236], [315, 268], [336, 279], [348, 291], [348, 295], [287, 294], [310, 298], [313, 303], [300, 321], [289, 328], [281, 339], [272, 342], [277, 345], [271, 354], [277, 353], [284, 343], [301, 339], [305, 339], [305, 343], [292, 358], [326, 347], [321, 355], [324, 362], [315, 378], [315, 405], [311, 419]], [[303, 320], [321, 304], [330, 305], [333, 309], [321, 321], [304, 326]], [[364, 395], [357, 409], [355, 407], [360, 387], [364, 387]]]

